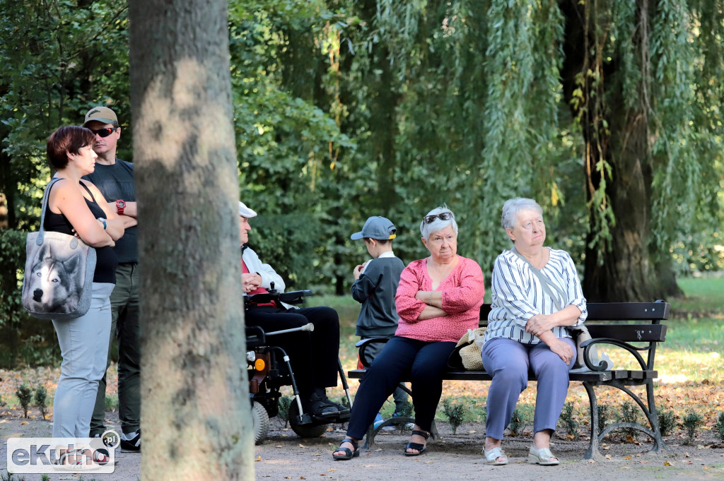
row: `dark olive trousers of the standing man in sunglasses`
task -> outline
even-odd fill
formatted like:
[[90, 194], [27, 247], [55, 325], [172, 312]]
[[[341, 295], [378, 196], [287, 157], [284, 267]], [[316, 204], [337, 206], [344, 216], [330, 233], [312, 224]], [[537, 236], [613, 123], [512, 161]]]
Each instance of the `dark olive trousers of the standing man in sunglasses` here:
[[[140, 427], [140, 327], [138, 323], [140, 276], [137, 263], [116, 268], [116, 289], [111, 294], [111, 331], [107, 352], [118, 338], [118, 417], [123, 433]], [[106, 369], [110, 362], [106, 363]], [[90, 437], [102, 435], [106, 417], [106, 374], [98, 382], [96, 406], [90, 421]]]

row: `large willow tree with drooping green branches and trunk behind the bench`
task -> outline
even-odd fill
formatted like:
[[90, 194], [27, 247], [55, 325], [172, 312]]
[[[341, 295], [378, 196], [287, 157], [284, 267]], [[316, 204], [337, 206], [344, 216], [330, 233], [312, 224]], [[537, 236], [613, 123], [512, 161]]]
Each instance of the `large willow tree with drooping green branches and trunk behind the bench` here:
[[589, 299], [678, 294], [674, 245], [720, 225], [721, 1], [374, 3], [357, 11], [399, 93], [393, 215], [447, 200], [489, 266], [502, 202], [536, 197]]

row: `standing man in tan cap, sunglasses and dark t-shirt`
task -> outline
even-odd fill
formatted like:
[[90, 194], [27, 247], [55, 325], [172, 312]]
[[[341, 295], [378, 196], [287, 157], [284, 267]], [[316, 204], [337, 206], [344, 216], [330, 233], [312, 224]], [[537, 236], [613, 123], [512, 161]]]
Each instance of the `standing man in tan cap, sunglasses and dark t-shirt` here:
[[[111, 294], [111, 339], [118, 339], [118, 414], [121, 422], [121, 451], [140, 451], [140, 337], [138, 304], [138, 237], [133, 164], [116, 158], [121, 127], [116, 113], [106, 106], [91, 108], [83, 127], [96, 135], [93, 150], [98, 154], [96, 170], [84, 179], [98, 190], [124, 221], [125, 233], [116, 242], [117, 284]], [[109, 357], [110, 359], [110, 357]], [[98, 383], [96, 409], [90, 421], [90, 437], [106, 430], [106, 377]]]

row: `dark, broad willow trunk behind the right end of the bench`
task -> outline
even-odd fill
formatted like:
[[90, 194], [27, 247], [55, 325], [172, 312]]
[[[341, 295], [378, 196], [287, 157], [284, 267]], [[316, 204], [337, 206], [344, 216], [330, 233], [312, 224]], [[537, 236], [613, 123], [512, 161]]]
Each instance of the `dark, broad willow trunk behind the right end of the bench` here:
[[[653, 182], [652, 156], [649, 150], [648, 99], [645, 96], [646, 72], [641, 72], [641, 98], [633, 107], [626, 104], [617, 78], [618, 59], [605, 60], [600, 55], [605, 35], [594, 35], [596, 28], [605, 30], [606, 22], [595, 11], [589, 10], [589, 28], [586, 28], [586, 5], [566, 0], [560, 3], [566, 17], [565, 62], [563, 82], [565, 98], [571, 104], [574, 78], [581, 72], [598, 75], [596, 82], [586, 76], [583, 86], [585, 111], [581, 116], [581, 130], [586, 141], [585, 169], [588, 194], [592, 201], [599, 188], [601, 173], [599, 161], [611, 167], [611, 178], [605, 184], [607, 200], [615, 222], [607, 222], [610, 243], [605, 248], [594, 244], [601, 229], [594, 210], [600, 203], [591, 203], [591, 232], [586, 237], [584, 294], [597, 301], [651, 301], [667, 295], [679, 295], [670, 264], [662, 263], [660, 253], [651, 252], [650, 227], [651, 186]], [[590, 7], [590, 5], [588, 5]], [[638, 0], [636, 11], [639, 29], [636, 45], [647, 68], [650, 12], [648, 0]], [[579, 111], [574, 109], [573, 114]]]

